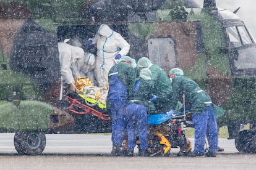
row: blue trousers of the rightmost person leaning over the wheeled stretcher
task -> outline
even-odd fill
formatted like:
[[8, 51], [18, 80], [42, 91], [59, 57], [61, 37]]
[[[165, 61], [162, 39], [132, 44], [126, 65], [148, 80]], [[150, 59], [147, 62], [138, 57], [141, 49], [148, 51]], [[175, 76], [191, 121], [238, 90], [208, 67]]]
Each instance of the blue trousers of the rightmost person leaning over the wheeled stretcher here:
[[194, 152], [203, 153], [205, 148], [205, 136], [209, 144], [209, 151], [218, 151], [218, 127], [213, 107], [203, 110], [202, 114], [194, 114], [192, 121], [195, 127]]

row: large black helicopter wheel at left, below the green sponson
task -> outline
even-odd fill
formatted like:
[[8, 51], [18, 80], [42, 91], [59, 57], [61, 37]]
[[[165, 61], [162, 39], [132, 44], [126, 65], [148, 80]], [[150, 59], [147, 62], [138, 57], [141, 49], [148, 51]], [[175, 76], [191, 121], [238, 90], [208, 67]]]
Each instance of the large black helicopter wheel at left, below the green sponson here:
[[20, 155], [40, 155], [45, 150], [46, 137], [43, 132], [15, 132], [14, 147]]

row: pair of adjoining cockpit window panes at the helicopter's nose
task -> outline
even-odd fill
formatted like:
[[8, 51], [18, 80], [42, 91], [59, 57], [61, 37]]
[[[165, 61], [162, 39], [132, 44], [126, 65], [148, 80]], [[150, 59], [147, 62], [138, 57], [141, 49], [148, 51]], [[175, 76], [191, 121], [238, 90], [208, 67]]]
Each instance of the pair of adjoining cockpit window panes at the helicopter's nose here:
[[226, 28], [231, 48], [241, 47], [246, 44], [253, 44], [252, 39], [244, 26], [230, 26]]

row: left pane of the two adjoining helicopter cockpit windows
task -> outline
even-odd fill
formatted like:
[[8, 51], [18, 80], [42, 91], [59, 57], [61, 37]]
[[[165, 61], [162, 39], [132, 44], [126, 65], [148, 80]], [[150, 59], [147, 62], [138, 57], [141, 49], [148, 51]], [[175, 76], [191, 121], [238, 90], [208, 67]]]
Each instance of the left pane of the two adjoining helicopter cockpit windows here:
[[239, 38], [239, 34], [237, 33], [236, 26], [228, 27], [228, 28], [226, 28], [226, 31], [228, 33], [229, 42], [230, 42], [232, 48], [242, 46], [242, 43]]

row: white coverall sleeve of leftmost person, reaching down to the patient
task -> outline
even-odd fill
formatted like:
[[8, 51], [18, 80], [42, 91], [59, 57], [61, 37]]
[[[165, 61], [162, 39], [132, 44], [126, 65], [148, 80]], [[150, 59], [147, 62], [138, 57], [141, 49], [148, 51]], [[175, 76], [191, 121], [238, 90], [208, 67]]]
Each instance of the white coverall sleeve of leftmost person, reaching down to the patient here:
[[70, 60], [71, 60], [71, 57], [66, 52], [61, 52], [61, 54], [59, 54], [59, 63], [61, 65], [61, 75], [67, 84], [74, 82], [74, 77], [70, 69], [70, 66], [71, 66]]

